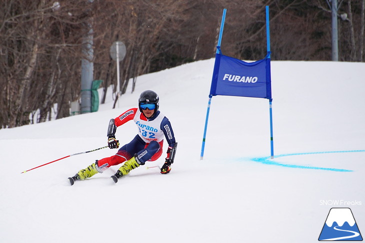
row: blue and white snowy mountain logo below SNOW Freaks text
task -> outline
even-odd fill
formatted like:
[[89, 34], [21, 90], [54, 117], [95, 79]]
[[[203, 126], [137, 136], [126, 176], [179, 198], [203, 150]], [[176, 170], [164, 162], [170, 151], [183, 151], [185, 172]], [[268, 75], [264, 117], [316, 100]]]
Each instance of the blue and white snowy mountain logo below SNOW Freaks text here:
[[318, 240], [361, 241], [362, 236], [351, 209], [348, 207], [332, 207], [328, 212]]

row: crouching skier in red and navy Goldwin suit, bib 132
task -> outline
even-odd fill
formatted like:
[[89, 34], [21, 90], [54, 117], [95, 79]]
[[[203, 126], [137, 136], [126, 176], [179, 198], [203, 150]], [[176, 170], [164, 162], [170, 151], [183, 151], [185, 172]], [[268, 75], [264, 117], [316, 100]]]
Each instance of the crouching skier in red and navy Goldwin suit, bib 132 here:
[[127, 144], [119, 148], [111, 157], [96, 160], [85, 169], [79, 170], [74, 176], [69, 177], [72, 185], [75, 180], [84, 180], [111, 165], [125, 162], [117, 172], [112, 175], [116, 183], [118, 178], [129, 173], [130, 170], [143, 165], [146, 161], [154, 161], [162, 154], [163, 136], [168, 143], [167, 157], [160, 172], [166, 174], [171, 170], [177, 142], [173, 135], [169, 120], [158, 110], [159, 98], [152, 90], [143, 91], [138, 99], [138, 108], [130, 108], [115, 119], [110, 119], [107, 128], [107, 143], [109, 148], [118, 148], [119, 140], [115, 138], [116, 127], [133, 120], [138, 127], [138, 134]]

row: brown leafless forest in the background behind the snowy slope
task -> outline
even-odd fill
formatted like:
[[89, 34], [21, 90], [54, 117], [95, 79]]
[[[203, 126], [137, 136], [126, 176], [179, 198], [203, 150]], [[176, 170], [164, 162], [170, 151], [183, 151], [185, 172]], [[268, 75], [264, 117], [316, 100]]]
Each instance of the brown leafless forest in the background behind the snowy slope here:
[[[122, 41], [120, 91], [129, 80], [214, 57], [331, 60], [331, 0], [3, 0], [0, 1], [0, 128], [70, 115], [80, 98], [85, 36], [93, 33], [93, 79], [116, 91], [111, 44]], [[365, 0], [337, 0], [338, 58], [364, 61]], [[133, 78], [134, 77], [134, 78]], [[168, 80], [165, 80], [168, 81]], [[113, 85], [111, 85], [113, 84]], [[56, 105], [55, 105], [56, 104]]]

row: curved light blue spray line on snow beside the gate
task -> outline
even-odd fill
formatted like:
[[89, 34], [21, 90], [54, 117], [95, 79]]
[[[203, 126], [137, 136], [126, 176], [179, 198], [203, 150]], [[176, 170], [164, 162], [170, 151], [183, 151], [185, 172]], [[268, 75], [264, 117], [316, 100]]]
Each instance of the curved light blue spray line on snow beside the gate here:
[[[288, 154], [280, 154], [275, 155], [277, 157], [284, 157], [284, 156], [292, 156], [292, 155], [306, 155], [306, 154], [319, 154], [319, 153], [339, 153], [339, 152], [365, 152], [365, 150], [346, 150], [346, 151], [325, 151], [325, 152], [304, 152], [304, 153], [288, 153]], [[349, 169], [338, 169], [338, 168], [324, 168], [324, 167], [316, 167], [316, 166], [305, 166], [305, 165], [297, 165], [297, 164], [285, 164], [280, 162], [275, 162], [271, 159], [271, 157], [260, 157], [260, 158], [251, 158], [252, 161], [263, 163], [263, 164], [270, 164], [270, 165], [278, 165], [290, 168], [304, 168], [304, 169], [322, 169], [322, 170], [331, 170], [331, 171], [340, 171], [340, 172], [349, 172], [352, 170]]]

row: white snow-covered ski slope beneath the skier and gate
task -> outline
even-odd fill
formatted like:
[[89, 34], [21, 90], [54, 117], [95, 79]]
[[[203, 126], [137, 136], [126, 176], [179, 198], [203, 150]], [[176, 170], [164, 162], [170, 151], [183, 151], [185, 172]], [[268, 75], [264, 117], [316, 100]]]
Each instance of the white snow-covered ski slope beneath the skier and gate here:
[[[272, 61], [274, 153], [267, 99], [214, 96], [199, 160], [214, 59], [138, 77], [112, 109], [0, 129], [0, 242], [317, 242], [331, 207], [365, 232], [365, 63]], [[114, 184], [118, 166], [70, 186], [109, 148], [114, 118], [152, 89], [178, 148]], [[129, 142], [133, 122], [118, 127]], [[166, 144], [164, 144], [164, 150]], [[333, 203], [336, 203], [334, 205]]]

